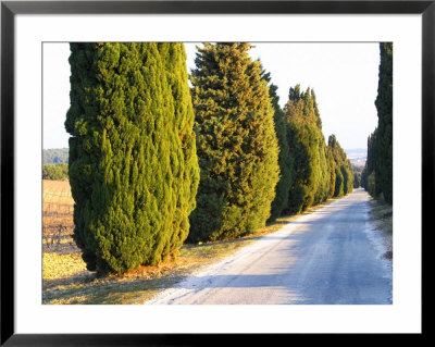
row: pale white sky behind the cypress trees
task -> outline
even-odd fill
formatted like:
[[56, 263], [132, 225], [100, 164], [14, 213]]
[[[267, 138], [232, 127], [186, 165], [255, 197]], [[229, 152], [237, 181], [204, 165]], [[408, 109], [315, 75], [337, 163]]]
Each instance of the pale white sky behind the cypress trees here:
[[[195, 67], [196, 46], [185, 44], [188, 72]], [[335, 134], [345, 149], [366, 148], [377, 124], [378, 44], [252, 42], [252, 59], [260, 59], [278, 89], [279, 104], [297, 84], [315, 91], [325, 140]], [[70, 108], [70, 46], [44, 44], [44, 148], [69, 147], [64, 128]]]

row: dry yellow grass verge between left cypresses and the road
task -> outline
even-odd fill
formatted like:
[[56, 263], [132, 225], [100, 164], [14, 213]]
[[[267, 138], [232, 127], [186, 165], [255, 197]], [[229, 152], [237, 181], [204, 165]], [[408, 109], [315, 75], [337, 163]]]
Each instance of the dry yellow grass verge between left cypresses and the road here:
[[[309, 209], [311, 213], [333, 200]], [[42, 269], [42, 303], [49, 305], [135, 305], [152, 298], [160, 290], [248, 246], [260, 237], [276, 232], [297, 215], [277, 219], [246, 237], [206, 243], [185, 244], [173, 261], [158, 267], [141, 267], [123, 275], [98, 277], [86, 270], [79, 255], [45, 255]]]

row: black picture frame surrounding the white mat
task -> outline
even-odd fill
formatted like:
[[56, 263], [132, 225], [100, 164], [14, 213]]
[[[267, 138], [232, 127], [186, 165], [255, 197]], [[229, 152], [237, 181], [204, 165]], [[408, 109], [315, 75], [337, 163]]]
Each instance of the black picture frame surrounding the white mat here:
[[[246, 344], [244, 334], [16, 334], [14, 329], [14, 21], [17, 14], [421, 14], [422, 237], [432, 222], [435, 137], [435, 1], [1, 1], [1, 346], [192, 346], [207, 340]], [[424, 189], [423, 189], [424, 187]], [[423, 247], [424, 243], [422, 243]], [[426, 243], [427, 247], [427, 243]], [[422, 249], [422, 253], [426, 252]], [[423, 258], [422, 258], [423, 269]], [[424, 271], [423, 271], [424, 272]], [[423, 280], [423, 276], [422, 276]], [[422, 283], [423, 284], [423, 283]], [[423, 294], [423, 293], [422, 293]], [[422, 306], [422, 311], [423, 311]], [[424, 324], [422, 334], [424, 335]], [[334, 334], [315, 334], [327, 343]], [[277, 336], [279, 338], [279, 336]], [[380, 335], [376, 336], [380, 338]], [[364, 339], [364, 337], [362, 337]], [[269, 340], [256, 336], [254, 342]]]

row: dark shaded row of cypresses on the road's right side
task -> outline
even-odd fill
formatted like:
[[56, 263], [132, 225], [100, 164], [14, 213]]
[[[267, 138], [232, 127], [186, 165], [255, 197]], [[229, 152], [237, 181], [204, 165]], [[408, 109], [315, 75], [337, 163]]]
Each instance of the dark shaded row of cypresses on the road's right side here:
[[380, 74], [375, 106], [377, 126], [368, 138], [368, 159], [361, 185], [374, 198], [393, 203], [393, 42], [380, 44]]

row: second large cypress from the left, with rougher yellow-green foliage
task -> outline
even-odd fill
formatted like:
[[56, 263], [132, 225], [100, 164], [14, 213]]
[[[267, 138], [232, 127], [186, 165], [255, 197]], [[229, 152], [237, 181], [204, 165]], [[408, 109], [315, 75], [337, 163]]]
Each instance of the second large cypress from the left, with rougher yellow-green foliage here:
[[206, 44], [191, 74], [200, 184], [190, 241], [265, 225], [279, 178], [274, 109], [249, 44]]

